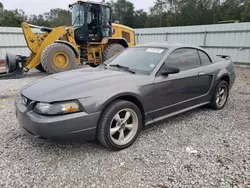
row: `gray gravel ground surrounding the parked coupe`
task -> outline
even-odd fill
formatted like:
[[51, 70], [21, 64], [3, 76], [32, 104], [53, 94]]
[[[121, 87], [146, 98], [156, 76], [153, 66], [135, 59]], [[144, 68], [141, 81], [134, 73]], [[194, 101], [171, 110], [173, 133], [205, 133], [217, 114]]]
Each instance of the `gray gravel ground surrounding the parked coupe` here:
[[154, 124], [120, 152], [31, 140], [14, 97], [44, 74], [0, 80], [0, 187], [250, 187], [250, 69], [237, 75], [224, 110], [199, 108]]

